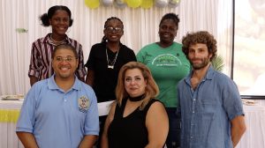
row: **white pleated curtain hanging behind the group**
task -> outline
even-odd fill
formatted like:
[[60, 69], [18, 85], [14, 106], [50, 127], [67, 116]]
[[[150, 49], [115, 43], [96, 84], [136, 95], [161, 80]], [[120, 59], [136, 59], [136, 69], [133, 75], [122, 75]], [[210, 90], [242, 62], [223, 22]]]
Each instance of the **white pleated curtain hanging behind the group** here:
[[[26, 94], [30, 88], [27, 70], [31, 44], [51, 31], [41, 26], [40, 15], [52, 5], [66, 5], [72, 11], [73, 25], [67, 34], [83, 45], [85, 62], [91, 46], [102, 40], [102, 30], [107, 18], [121, 18], [125, 25], [122, 42], [133, 48], [135, 54], [141, 47], [158, 38], [160, 19], [167, 12], [179, 15], [180, 24], [176, 41], [187, 32], [206, 30], [217, 39], [219, 54], [225, 57], [229, 73], [231, 62], [231, 0], [182, 0], [176, 8], [117, 9], [100, 6], [89, 9], [84, 0], [0, 0], [0, 95]], [[17, 28], [25, 28], [19, 33]]]

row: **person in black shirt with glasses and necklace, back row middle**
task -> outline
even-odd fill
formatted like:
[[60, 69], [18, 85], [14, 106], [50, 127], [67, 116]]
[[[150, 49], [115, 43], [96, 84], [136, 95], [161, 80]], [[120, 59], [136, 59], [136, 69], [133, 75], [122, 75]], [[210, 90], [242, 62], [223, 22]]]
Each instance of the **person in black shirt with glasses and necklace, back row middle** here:
[[[92, 46], [85, 64], [86, 83], [93, 87], [98, 102], [116, 100], [115, 87], [118, 71], [125, 63], [136, 61], [133, 50], [120, 42], [124, 34], [124, 25], [119, 18], [108, 18], [103, 33], [102, 42]], [[101, 139], [106, 117], [104, 115], [99, 118], [99, 139]], [[97, 146], [100, 147], [100, 144]]]

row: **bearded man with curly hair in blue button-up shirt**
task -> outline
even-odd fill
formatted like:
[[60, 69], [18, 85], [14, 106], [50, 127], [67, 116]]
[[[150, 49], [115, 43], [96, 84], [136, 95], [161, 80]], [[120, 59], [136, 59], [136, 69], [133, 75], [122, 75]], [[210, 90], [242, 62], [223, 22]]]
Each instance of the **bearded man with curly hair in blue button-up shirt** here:
[[178, 84], [181, 147], [233, 148], [246, 130], [237, 85], [210, 62], [216, 40], [208, 32], [187, 33], [183, 52], [193, 66]]

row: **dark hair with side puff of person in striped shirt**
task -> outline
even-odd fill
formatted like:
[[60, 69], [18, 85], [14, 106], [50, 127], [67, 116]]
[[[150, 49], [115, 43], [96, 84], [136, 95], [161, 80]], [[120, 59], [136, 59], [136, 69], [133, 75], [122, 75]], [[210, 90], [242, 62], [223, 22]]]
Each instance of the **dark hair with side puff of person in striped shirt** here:
[[42, 26], [49, 26], [49, 19], [52, 18], [52, 16], [56, 13], [56, 11], [66, 11], [69, 15], [69, 26], [72, 26], [72, 18], [71, 18], [71, 11], [69, 10], [68, 7], [64, 6], [64, 5], [54, 5], [52, 7], [49, 8], [48, 13], [44, 13], [42, 14], [42, 16], [40, 17], [40, 19], [42, 20]]

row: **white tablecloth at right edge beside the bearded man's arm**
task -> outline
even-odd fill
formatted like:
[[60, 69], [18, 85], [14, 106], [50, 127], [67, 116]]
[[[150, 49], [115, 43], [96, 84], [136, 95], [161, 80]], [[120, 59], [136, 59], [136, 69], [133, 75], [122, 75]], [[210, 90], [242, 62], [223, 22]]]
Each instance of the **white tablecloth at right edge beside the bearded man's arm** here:
[[236, 148], [265, 148], [265, 107], [244, 105], [246, 132]]

